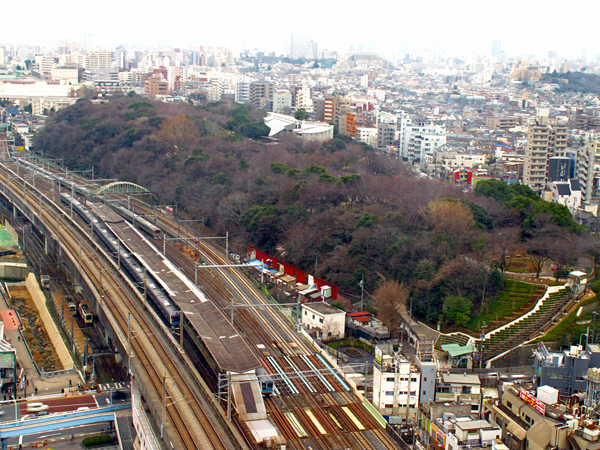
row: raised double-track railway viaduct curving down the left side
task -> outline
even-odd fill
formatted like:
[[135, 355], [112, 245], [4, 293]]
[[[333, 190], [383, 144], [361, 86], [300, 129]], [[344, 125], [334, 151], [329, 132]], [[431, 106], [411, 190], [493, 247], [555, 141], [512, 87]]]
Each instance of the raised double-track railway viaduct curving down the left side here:
[[[32, 214], [45, 223], [78, 266], [90, 288], [97, 293], [104, 310], [116, 325], [121, 341], [129, 346], [129, 368], [129, 362], [135, 364], [136, 376], [142, 379], [141, 382], [152, 386], [156, 398], [163, 404], [164, 414], [169, 419], [164, 424], [169, 428], [165, 428], [165, 433], [173, 447], [239, 448], [240, 445], [233, 443], [223, 431], [223, 424], [213, 417], [206, 399], [195, 389], [197, 381], [185, 370], [180, 356], [173, 350], [174, 346], [168, 342], [166, 336], [169, 331], [149, 317], [135, 286], [120, 274], [109, 255], [89, 241], [89, 230], [78, 226], [76, 222], [72, 226], [65, 225], [66, 217], [70, 214], [46, 196], [44, 192], [50, 192], [52, 188], [45, 186], [43, 181], [38, 180], [34, 188], [17, 176], [9, 163], [4, 163], [3, 167], [4, 170], [0, 170], [0, 183], [28, 204]], [[65, 219], [59, 220], [59, 215]]]

